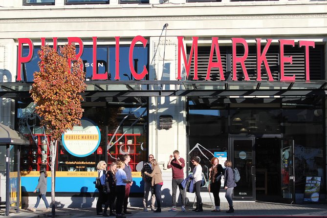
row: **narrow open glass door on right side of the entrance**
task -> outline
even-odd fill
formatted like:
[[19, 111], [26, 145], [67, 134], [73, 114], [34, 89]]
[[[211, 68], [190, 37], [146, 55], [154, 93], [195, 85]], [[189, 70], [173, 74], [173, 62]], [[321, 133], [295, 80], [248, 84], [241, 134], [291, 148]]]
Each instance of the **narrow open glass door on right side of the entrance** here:
[[282, 141], [281, 153], [282, 201], [292, 204], [295, 203], [294, 140], [292, 138]]

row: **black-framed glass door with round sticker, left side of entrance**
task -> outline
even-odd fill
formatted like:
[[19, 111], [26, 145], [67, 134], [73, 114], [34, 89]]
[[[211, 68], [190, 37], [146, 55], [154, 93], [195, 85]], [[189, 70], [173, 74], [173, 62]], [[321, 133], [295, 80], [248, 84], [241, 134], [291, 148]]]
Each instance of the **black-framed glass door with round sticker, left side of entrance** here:
[[230, 151], [233, 169], [238, 168], [240, 181], [234, 188], [235, 200], [255, 200], [255, 137], [231, 136]]

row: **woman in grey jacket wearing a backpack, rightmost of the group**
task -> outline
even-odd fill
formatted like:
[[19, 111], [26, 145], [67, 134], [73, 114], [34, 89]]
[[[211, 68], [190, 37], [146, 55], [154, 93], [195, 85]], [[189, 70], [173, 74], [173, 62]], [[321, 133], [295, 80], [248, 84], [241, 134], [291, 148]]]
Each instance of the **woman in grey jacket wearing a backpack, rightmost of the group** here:
[[227, 199], [227, 202], [229, 204], [229, 210], [226, 211], [226, 213], [233, 213], [234, 212], [234, 208], [233, 208], [233, 199], [232, 199], [232, 193], [234, 190], [234, 187], [236, 187], [236, 183], [234, 180], [234, 172], [232, 169], [232, 161], [230, 160], [226, 160], [225, 161], [225, 174], [224, 174], [224, 187], [226, 189], [226, 194], [225, 197]]

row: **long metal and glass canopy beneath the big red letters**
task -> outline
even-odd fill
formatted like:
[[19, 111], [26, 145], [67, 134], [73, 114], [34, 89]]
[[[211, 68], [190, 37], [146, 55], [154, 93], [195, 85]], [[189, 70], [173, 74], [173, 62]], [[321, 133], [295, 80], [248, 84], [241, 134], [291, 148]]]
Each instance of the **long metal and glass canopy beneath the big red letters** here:
[[[287, 97], [326, 95], [326, 80], [316, 81], [86, 81], [86, 102], [138, 101], [137, 97]], [[0, 83], [0, 97], [30, 98], [32, 83]]]

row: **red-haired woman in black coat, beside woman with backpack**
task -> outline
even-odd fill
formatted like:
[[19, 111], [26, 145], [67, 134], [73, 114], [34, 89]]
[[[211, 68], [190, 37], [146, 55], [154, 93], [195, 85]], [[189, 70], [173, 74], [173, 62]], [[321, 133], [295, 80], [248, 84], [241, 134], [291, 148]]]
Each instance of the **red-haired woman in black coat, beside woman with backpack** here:
[[219, 191], [221, 186], [221, 175], [224, 174], [222, 166], [217, 157], [211, 159], [212, 167], [209, 169], [210, 192], [214, 195], [216, 208], [212, 212], [220, 212]]

